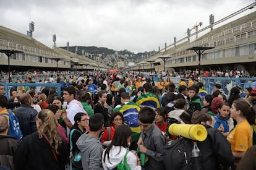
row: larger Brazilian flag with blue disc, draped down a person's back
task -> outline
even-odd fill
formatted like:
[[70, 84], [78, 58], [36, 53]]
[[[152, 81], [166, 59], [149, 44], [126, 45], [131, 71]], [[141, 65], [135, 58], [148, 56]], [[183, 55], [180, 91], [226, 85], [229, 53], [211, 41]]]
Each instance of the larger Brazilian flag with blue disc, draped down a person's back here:
[[133, 101], [129, 101], [129, 103], [113, 109], [113, 112], [117, 111], [122, 113], [125, 124], [129, 125], [130, 130], [132, 130], [132, 141], [138, 140], [141, 132], [139, 126], [140, 106]]

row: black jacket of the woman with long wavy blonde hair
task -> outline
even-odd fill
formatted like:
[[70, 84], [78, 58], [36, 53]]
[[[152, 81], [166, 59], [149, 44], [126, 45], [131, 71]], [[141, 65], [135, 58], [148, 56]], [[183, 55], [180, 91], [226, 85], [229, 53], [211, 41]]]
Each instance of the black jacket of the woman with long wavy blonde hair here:
[[56, 169], [64, 170], [67, 163], [67, 148], [62, 140], [58, 148], [58, 162], [56, 162], [53, 152], [46, 139], [39, 138], [38, 132], [27, 135], [23, 138], [19, 148], [14, 154], [14, 166], [16, 170], [43, 170]]

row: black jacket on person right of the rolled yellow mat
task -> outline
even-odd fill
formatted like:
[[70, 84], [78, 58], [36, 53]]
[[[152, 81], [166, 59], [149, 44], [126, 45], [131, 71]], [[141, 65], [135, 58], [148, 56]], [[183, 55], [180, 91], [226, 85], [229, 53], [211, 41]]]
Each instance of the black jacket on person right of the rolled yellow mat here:
[[231, 166], [234, 163], [234, 156], [231, 145], [223, 134], [217, 129], [205, 125], [208, 135], [203, 142], [197, 142], [203, 156], [203, 169], [215, 170], [219, 164]]

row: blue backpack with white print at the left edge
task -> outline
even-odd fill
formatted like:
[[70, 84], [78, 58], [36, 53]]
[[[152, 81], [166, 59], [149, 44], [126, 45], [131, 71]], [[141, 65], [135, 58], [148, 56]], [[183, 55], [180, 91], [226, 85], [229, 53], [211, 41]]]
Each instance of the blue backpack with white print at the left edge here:
[[22, 140], [22, 132], [20, 130], [20, 123], [17, 116], [15, 116], [14, 113], [12, 113], [11, 110], [7, 109], [7, 113], [3, 113], [1, 115], [5, 115], [9, 117], [9, 129], [7, 135], [11, 137], [17, 138], [19, 141]]

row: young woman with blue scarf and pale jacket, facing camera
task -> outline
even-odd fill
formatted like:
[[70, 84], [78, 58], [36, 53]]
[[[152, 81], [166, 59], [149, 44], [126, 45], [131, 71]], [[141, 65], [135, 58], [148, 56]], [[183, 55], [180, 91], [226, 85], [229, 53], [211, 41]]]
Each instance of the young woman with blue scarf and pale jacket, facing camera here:
[[219, 106], [219, 113], [211, 116], [211, 126], [220, 130], [223, 135], [228, 136], [229, 132], [234, 128], [234, 121], [229, 116], [230, 106], [228, 103], [221, 103]]

